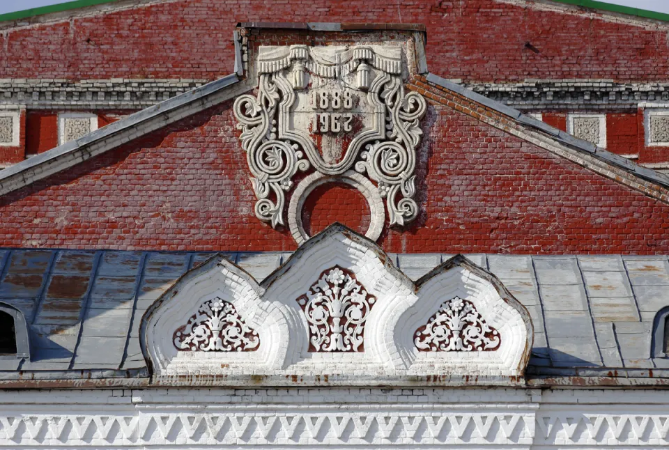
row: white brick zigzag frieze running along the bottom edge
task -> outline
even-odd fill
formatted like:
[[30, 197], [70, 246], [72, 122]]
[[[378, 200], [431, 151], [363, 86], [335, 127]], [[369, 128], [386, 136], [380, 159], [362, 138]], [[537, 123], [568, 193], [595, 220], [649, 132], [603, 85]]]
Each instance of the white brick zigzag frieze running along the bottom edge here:
[[[98, 405], [99, 410], [105, 405]], [[267, 405], [0, 416], [3, 447], [666, 446], [668, 414], [536, 412], [537, 405]], [[601, 409], [606, 405], [601, 405]]]

